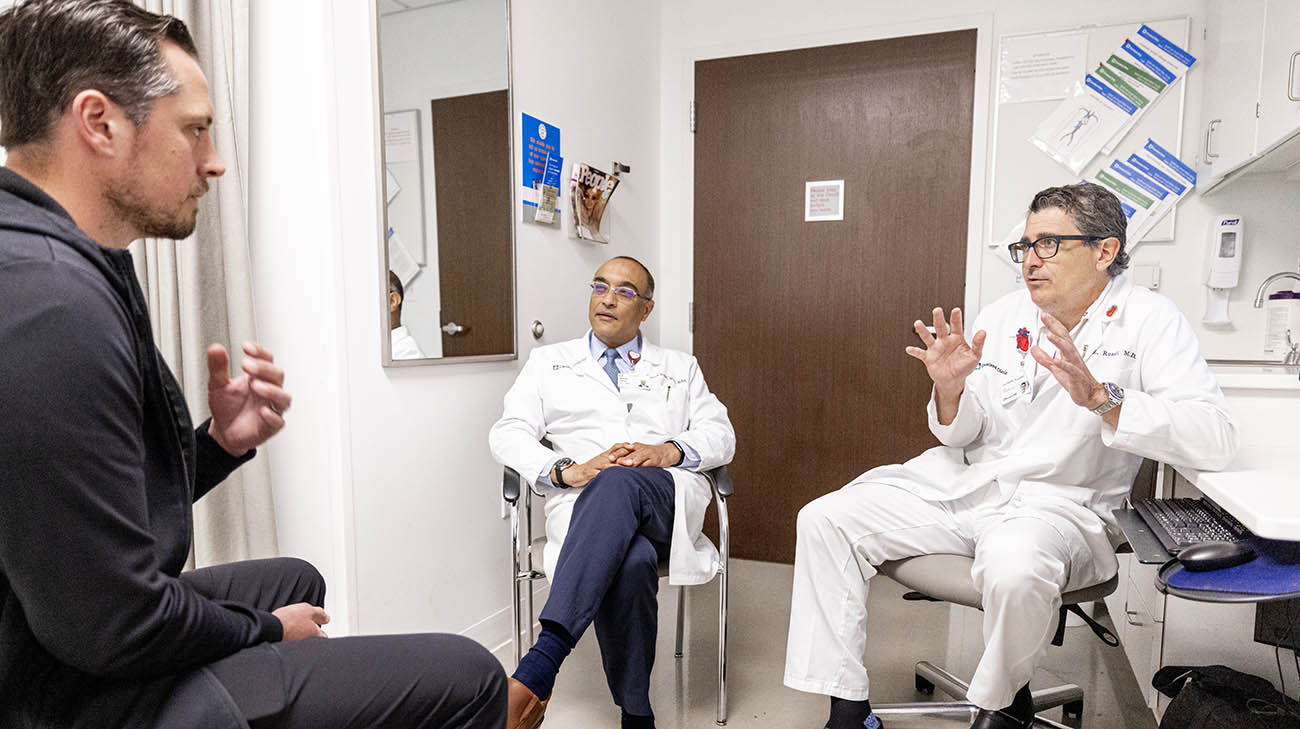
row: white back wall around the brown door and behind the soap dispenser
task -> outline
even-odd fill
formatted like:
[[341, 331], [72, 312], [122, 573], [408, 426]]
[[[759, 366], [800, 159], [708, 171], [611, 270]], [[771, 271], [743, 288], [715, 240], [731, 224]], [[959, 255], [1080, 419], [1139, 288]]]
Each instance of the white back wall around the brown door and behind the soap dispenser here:
[[[1145, 18], [1188, 16], [1192, 21], [1192, 53], [1204, 57], [1201, 31], [1205, 21], [1205, 1], [1104, 0], [1076, 5], [1053, 5], [1044, 12], [1041, 3], [1027, 0], [933, 0], [930, 3], [862, 3], [857, 0], [823, 0], [809, 6], [792, 9], [781, 0], [718, 0], [693, 3], [692, 0], [663, 1], [663, 113], [660, 117], [663, 143], [663, 211], [666, 231], [660, 256], [663, 270], [673, 288], [664, 291], [660, 308], [664, 343], [680, 348], [690, 347], [686, 330], [686, 301], [690, 300], [690, 235], [689, 185], [692, 146], [686, 131], [686, 104], [693, 88], [693, 61], [697, 58], [725, 57], [745, 53], [780, 51], [832, 43], [850, 43], [889, 35], [931, 32], [953, 27], [953, 18], [961, 18], [966, 27], [989, 25], [991, 43], [980, 45], [980, 71], [978, 78], [976, 135], [972, 164], [976, 179], [988, 181], [989, 134], [992, 126], [987, 114], [992, 113], [993, 66], [984, 57], [996, 53], [996, 40], [1001, 35], [1063, 30], [1080, 25], [1112, 25], [1139, 22]], [[1214, 62], [1205, 58], [1205, 62]], [[1199, 152], [1201, 75], [1188, 75], [1187, 107], [1183, 125], [1183, 157], [1193, 159]], [[1166, 100], [1167, 101], [1167, 100]], [[982, 117], [985, 114], [984, 117]], [[984, 133], [982, 134], [982, 125]], [[1001, 170], [998, 174], [1011, 174]], [[983, 231], [985, 186], [971, 190], [979, 216], [971, 221], [972, 231]], [[1231, 298], [1234, 330], [1210, 330], [1197, 326], [1201, 346], [1209, 357], [1260, 359], [1264, 356], [1264, 314], [1251, 309], [1251, 299], [1260, 281], [1275, 270], [1295, 269], [1300, 239], [1296, 224], [1300, 211], [1294, 200], [1300, 196], [1300, 185], [1283, 183], [1279, 175], [1240, 181], [1212, 196], [1199, 194], [1184, 200], [1178, 208], [1176, 235], [1173, 243], [1144, 243], [1135, 249], [1135, 264], [1157, 262], [1162, 268], [1161, 292], [1173, 298], [1193, 322], [1204, 312], [1204, 287], [1200, 286], [1202, 248], [1214, 216], [1240, 212], [1247, 216], [1247, 251], [1242, 269], [1242, 286]], [[1028, 200], [1026, 200], [1028, 204]], [[967, 305], [978, 308], [1018, 286], [1010, 268], [989, 256], [972, 235], [967, 248]]]

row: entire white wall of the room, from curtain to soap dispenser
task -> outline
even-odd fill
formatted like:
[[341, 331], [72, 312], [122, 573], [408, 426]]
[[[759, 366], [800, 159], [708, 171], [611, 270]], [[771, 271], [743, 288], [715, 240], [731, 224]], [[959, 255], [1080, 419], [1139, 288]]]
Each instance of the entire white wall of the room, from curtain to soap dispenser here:
[[[251, 233], [259, 327], [289, 370], [295, 395], [290, 426], [273, 441], [281, 546], [315, 561], [332, 583], [334, 633], [465, 632], [495, 646], [508, 615], [507, 522], [500, 518], [499, 468], [486, 431], [520, 361], [384, 369], [380, 366], [378, 133], [372, 38], [374, 10], [347, 0], [254, 5], [254, 143]], [[698, 4], [606, 4], [578, 0], [514, 8], [514, 139], [519, 113], [562, 129], [566, 164], [611, 160], [632, 166], [611, 203], [614, 243], [577, 242], [566, 230], [516, 222], [517, 324], [521, 356], [534, 346], [586, 329], [582, 286], [612, 255], [632, 255], [655, 272], [659, 305], [647, 335], [689, 348], [690, 246], [682, 233], [689, 201], [685, 131], [686, 58], [758, 52], [880, 36], [881, 26], [974, 17], [993, 35], [1193, 17], [1199, 48], [1204, 3], [1166, 0], [1132, 9], [1104, 1], [1053, 8], [1040, 3], [944, 0], [898, 5], [836, 0], [793, 8], [777, 0]], [[976, 16], [970, 16], [975, 13]], [[989, 47], [982, 47], [989, 53]], [[1196, 75], [1188, 125], [1199, 116]], [[980, 88], [988, 90], [988, 79]], [[1184, 138], [1192, 134], [1184, 131]], [[975, 140], [976, 173], [987, 139]], [[515, 174], [519, 151], [515, 151]], [[517, 178], [515, 181], [517, 185]], [[1268, 244], [1296, 229], [1295, 185], [1238, 183], [1179, 212], [1179, 240], [1160, 257], [1165, 291], [1199, 318], [1199, 246], [1209, 217], [1235, 208], [1264, 221], [1252, 227], [1243, 281], [1253, 294], [1261, 270], [1295, 264], [1294, 242]], [[975, 195], [982, 191], [974, 190]], [[1290, 198], [1287, 198], [1290, 195]], [[1282, 211], [1279, 213], [1279, 211]], [[519, 218], [517, 211], [511, 212]], [[972, 229], [980, 230], [980, 221]], [[1138, 260], [1160, 252], [1156, 244]], [[1195, 251], [1192, 256], [1188, 251]], [[988, 298], [1006, 283], [987, 277], [972, 240], [978, 286]], [[1274, 261], [1273, 257], [1277, 260]], [[1234, 313], [1243, 309], [1239, 290]], [[1218, 346], [1206, 340], [1206, 350]]]

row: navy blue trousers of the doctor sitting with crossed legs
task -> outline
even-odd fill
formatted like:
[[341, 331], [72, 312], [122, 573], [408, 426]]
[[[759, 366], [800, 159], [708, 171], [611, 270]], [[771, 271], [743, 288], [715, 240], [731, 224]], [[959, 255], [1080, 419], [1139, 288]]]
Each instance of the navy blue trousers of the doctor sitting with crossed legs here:
[[649, 716], [659, 630], [659, 561], [668, 559], [672, 476], [612, 467], [578, 494], [540, 619], [575, 641], [595, 622], [604, 678], [623, 711]]

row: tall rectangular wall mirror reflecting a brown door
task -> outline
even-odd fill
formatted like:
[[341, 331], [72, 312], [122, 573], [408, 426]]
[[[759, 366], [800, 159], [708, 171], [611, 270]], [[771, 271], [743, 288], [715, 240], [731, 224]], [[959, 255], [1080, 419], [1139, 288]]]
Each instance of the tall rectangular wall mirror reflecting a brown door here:
[[378, 0], [385, 365], [515, 356], [508, 0]]

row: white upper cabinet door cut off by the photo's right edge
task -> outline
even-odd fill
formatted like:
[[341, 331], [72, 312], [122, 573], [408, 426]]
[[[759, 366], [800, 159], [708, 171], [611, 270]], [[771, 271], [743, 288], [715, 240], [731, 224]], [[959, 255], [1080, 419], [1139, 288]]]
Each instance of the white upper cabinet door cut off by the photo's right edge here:
[[1266, 152], [1297, 130], [1300, 130], [1300, 0], [1268, 0], [1254, 153]]

